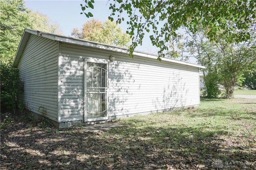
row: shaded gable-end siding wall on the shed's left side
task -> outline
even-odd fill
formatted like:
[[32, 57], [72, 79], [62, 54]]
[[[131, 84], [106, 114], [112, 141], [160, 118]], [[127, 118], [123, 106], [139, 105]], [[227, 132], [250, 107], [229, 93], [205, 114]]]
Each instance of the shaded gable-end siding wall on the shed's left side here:
[[58, 42], [30, 35], [18, 63], [27, 109], [58, 120]]

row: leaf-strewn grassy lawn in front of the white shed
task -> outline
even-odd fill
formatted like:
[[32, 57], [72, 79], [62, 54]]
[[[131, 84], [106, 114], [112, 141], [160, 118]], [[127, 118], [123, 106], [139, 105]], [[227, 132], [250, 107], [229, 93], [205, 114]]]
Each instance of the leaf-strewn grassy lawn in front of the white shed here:
[[89, 132], [17, 122], [1, 128], [4, 169], [255, 169], [256, 100], [202, 99]]

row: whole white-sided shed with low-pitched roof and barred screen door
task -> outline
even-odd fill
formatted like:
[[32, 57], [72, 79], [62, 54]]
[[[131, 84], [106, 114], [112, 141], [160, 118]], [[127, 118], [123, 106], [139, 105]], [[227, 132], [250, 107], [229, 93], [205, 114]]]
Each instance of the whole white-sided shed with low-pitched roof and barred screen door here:
[[200, 103], [203, 66], [25, 29], [13, 65], [25, 107], [57, 127]]

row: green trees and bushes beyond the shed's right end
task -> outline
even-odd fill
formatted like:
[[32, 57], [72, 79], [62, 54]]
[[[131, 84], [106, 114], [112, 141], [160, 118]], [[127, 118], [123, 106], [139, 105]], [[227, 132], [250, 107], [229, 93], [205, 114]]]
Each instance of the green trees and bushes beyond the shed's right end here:
[[[186, 28], [185, 28], [186, 29]], [[196, 58], [202, 69], [202, 77], [209, 98], [218, 98], [221, 94], [220, 86], [224, 87], [224, 97], [234, 97], [235, 87], [247, 86], [256, 89], [256, 22], [246, 30], [250, 38], [240, 43], [226, 42], [219, 36], [217, 42], [210, 41], [202, 27], [192, 33], [186, 29], [184, 48]], [[216, 32], [221, 35], [222, 30]]]

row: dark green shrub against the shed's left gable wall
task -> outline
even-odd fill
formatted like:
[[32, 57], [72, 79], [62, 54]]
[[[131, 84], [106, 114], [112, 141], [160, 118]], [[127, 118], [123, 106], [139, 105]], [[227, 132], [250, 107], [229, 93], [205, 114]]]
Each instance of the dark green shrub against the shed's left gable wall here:
[[[18, 95], [23, 92], [23, 84], [19, 78], [19, 70], [11, 64], [1, 62], [1, 111], [12, 110], [18, 106]], [[20, 103], [21, 104], [21, 103]]]

